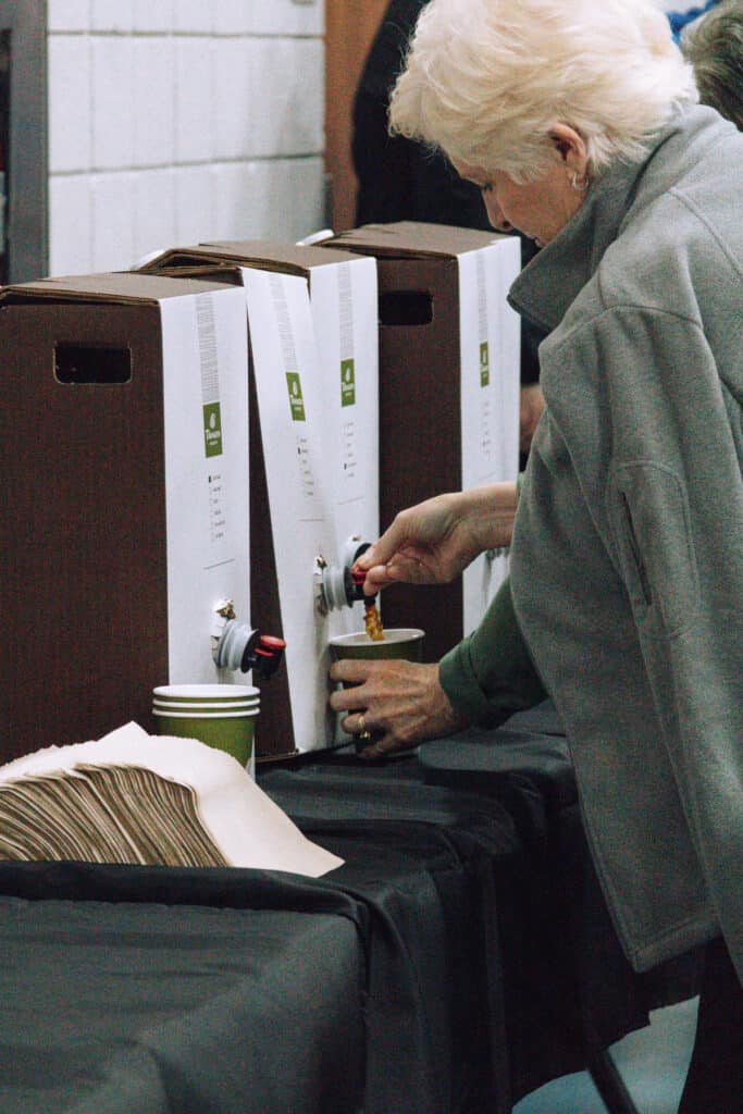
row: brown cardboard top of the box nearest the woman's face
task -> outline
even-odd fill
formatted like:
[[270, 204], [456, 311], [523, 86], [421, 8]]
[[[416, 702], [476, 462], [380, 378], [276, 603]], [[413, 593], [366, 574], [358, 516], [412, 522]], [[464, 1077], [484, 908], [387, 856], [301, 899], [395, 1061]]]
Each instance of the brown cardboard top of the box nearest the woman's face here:
[[363, 253], [380, 257], [439, 256], [452, 258], [465, 252], [475, 252], [502, 240], [501, 233], [459, 228], [446, 224], [423, 224], [417, 221], [397, 221], [392, 224], [364, 224], [326, 241], [331, 248]]

